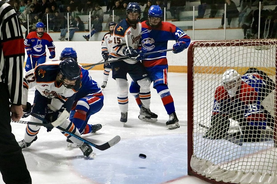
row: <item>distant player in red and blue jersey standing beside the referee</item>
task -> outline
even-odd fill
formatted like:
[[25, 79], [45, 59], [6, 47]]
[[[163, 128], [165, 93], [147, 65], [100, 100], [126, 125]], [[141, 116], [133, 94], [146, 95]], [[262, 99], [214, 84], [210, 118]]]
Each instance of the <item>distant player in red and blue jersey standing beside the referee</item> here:
[[[55, 45], [52, 38], [44, 32], [45, 26], [42, 22], [36, 24], [36, 32], [30, 32], [25, 41], [25, 49], [27, 52], [27, 60], [25, 65], [25, 70], [35, 68], [36, 65], [45, 63], [46, 61], [46, 46], [50, 52], [50, 59], [55, 57]], [[32, 59], [32, 60], [31, 60]]]

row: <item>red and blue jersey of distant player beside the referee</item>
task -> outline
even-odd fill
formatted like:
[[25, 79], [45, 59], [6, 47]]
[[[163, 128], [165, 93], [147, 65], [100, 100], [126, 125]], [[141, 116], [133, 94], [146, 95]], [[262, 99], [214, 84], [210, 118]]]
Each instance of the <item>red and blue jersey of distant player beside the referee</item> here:
[[31, 47], [32, 48], [32, 57], [40, 57], [42, 55], [46, 55], [46, 47], [49, 49], [49, 52], [55, 52], [55, 45], [52, 38], [47, 33], [43, 33], [42, 37], [38, 37], [37, 32], [30, 32], [25, 41], [24, 41], [25, 49]]

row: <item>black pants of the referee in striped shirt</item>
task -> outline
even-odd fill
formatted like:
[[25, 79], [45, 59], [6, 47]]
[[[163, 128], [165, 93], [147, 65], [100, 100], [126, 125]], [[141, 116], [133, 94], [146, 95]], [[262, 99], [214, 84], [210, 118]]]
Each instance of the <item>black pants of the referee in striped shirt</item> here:
[[21, 147], [12, 134], [8, 87], [0, 83], [0, 171], [6, 184], [31, 184]]

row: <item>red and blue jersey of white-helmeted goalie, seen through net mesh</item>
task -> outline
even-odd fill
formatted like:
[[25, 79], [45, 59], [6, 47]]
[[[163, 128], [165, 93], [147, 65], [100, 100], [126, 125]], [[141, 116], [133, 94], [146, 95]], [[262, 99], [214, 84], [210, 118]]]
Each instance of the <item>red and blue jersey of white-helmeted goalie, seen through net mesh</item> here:
[[242, 83], [234, 97], [230, 97], [224, 87], [219, 86], [214, 95], [213, 114], [231, 114], [242, 111], [250, 125], [265, 129], [267, 117], [264, 114], [264, 107], [261, 105], [265, 88], [266, 83], [258, 73], [242, 75]]

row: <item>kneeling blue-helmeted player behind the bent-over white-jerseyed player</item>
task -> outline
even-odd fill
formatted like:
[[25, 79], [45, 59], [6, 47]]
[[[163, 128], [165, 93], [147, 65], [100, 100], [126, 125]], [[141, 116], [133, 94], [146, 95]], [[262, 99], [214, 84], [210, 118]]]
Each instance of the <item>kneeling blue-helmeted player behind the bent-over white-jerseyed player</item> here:
[[[72, 47], [67, 47], [61, 52], [60, 60], [73, 58], [77, 62], [77, 53]], [[102, 128], [101, 124], [87, 124], [89, 117], [100, 111], [103, 107], [104, 96], [98, 83], [91, 79], [89, 72], [81, 67], [82, 86], [76, 93], [70, 111], [69, 120], [81, 134], [95, 133]], [[67, 140], [70, 142], [70, 140]]]

